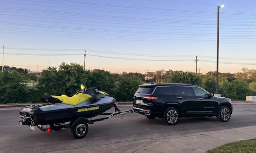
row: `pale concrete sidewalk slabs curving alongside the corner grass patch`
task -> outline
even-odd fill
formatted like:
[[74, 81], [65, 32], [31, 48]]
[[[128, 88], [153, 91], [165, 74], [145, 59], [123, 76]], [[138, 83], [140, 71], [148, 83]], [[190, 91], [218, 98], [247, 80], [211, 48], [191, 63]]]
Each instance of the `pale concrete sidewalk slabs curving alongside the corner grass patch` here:
[[148, 144], [135, 153], [204, 153], [235, 141], [256, 138], [256, 126], [203, 132], [180, 137], [167, 137]]

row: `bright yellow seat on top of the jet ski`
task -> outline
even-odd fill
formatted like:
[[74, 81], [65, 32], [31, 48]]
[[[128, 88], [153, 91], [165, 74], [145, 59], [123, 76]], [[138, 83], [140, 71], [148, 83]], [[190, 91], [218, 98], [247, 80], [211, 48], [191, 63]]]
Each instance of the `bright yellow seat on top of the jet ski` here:
[[64, 103], [64, 104], [73, 105], [73, 106], [78, 105], [81, 102], [88, 101], [92, 98], [91, 95], [84, 94], [84, 93], [78, 93], [78, 94], [73, 95], [72, 97], [68, 97], [65, 94], [63, 94], [61, 96], [52, 95], [52, 97], [61, 100], [62, 103]]

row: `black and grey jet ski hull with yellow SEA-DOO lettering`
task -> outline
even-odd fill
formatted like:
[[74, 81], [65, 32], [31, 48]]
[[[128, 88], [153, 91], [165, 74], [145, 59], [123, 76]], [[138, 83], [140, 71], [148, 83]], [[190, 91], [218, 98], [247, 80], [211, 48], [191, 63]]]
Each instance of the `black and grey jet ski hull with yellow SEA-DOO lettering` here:
[[48, 125], [72, 121], [75, 118], [91, 118], [113, 107], [115, 99], [103, 97], [97, 102], [89, 100], [72, 106], [63, 103], [31, 105], [19, 110], [23, 125]]

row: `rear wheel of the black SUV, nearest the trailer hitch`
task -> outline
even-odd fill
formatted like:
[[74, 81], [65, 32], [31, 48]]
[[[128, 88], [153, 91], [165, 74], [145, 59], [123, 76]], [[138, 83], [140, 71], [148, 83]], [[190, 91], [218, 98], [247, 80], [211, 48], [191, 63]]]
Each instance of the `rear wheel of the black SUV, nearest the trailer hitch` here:
[[179, 111], [174, 107], [168, 107], [163, 115], [163, 121], [167, 125], [175, 125], [179, 121]]

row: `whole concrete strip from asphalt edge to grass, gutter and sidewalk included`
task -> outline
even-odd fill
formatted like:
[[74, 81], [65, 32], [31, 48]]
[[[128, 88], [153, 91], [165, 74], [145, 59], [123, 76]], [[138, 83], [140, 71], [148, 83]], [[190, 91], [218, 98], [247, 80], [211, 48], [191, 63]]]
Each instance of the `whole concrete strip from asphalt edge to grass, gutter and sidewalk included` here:
[[256, 126], [188, 134], [130, 140], [51, 153], [205, 153], [207, 150], [239, 140], [256, 138]]

